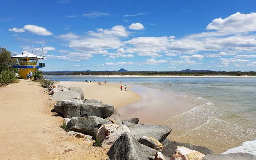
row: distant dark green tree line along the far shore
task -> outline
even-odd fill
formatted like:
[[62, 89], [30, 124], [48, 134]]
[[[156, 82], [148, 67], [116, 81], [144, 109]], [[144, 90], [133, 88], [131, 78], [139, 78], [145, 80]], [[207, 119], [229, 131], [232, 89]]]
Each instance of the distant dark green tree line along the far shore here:
[[57, 75], [138, 75], [138, 76], [256, 76], [256, 71], [207, 71], [207, 72], [181, 72], [181, 71], [73, 71], [73, 72], [44, 72], [44, 74]]

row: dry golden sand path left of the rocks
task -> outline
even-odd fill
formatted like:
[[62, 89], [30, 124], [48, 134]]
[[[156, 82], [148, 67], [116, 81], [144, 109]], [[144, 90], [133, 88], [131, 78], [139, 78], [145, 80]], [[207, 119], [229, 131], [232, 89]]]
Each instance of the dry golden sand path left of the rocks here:
[[44, 90], [24, 79], [0, 87], [0, 159], [108, 158], [106, 149], [66, 135]]

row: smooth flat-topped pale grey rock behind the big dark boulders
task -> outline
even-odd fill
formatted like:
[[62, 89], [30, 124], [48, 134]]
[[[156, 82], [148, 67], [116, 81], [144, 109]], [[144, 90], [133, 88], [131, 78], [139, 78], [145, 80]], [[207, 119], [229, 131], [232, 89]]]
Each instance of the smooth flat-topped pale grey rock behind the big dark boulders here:
[[60, 91], [60, 92], [57, 92], [55, 94], [52, 94], [50, 99], [64, 100], [64, 99], [73, 99], [73, 98], [76, 98], [76, 97], [80, 97], [80, 94], [78, 92], [71, 91], [71, 90], [66, 90], [66, 91]]

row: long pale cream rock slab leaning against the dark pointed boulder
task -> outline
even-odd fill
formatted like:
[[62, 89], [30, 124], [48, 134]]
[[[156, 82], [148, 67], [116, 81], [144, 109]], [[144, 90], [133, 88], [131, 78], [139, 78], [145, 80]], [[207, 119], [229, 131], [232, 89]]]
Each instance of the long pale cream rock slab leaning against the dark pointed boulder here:
[[124, 132], [130, 132], [129, 128], [125, 125], [119, 125], [119, 127], [116, 128], [116, 130], [111, 135], [105, 137], [101, 147], [110, 148]]

